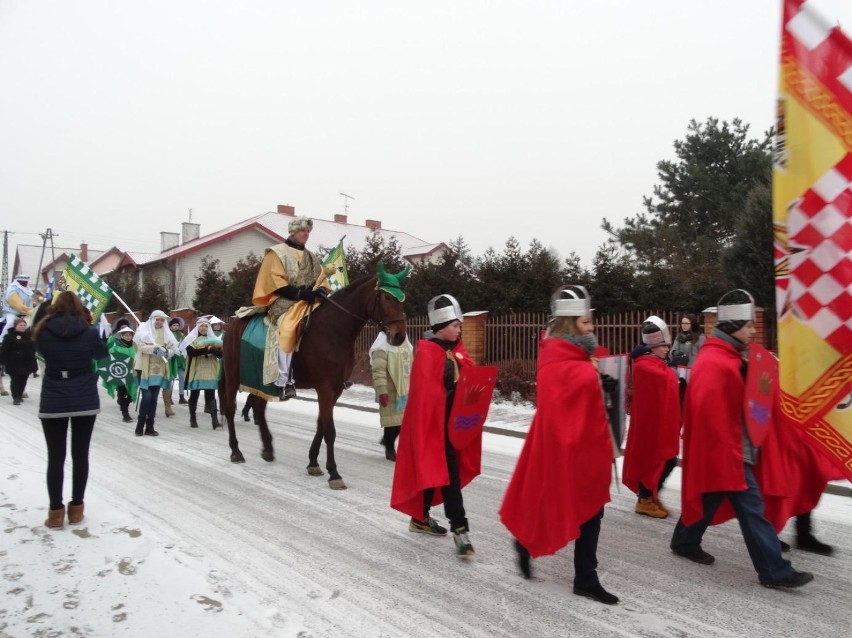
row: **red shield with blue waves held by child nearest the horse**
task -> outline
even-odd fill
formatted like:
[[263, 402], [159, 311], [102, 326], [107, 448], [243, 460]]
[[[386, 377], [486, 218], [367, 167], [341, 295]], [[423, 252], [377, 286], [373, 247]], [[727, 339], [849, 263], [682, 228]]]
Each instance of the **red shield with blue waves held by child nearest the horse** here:
[[457, 450], [482, 436], [482, 426], [488, 416], [495, 385], [495, 366], [466, 366], [461, 369], [447, 425], [450, 443]]

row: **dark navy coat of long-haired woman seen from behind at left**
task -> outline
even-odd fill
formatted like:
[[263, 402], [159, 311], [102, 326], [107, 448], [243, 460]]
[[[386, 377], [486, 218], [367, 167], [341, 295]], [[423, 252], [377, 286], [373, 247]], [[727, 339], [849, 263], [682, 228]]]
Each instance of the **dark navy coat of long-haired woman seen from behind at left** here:
[[95, 328], [78, 317], [52, 315], [38, 333], [36, 349], [44, 357], [39, 417], [100, 412], [93, 360], [109, 352]]

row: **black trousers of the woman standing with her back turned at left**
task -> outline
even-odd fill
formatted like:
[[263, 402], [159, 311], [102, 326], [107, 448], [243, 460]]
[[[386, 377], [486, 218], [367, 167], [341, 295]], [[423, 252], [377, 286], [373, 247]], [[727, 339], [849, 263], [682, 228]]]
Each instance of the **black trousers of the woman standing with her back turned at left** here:
[[79, 505], [86, 494], [89, 480], [89, 443], [95, 429], [95, 414], [86, 416], [42, 419], [41, 428], [47, 443], [47, 495], [50, 509], [62, 507], [62, 486], [65, 480], [65, 453], [68, 421], [71, 421], [71, 503]]

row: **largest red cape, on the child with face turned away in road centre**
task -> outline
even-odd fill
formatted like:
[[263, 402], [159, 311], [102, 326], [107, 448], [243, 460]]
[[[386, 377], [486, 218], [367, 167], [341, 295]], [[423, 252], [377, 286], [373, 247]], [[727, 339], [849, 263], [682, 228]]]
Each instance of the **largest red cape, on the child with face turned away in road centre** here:
[[600, 378], [582, 348], [543, 340], [536, 383], [538, 407], [500, 507], [533, 557], [565, 547], [610, 501], [613, 458]]

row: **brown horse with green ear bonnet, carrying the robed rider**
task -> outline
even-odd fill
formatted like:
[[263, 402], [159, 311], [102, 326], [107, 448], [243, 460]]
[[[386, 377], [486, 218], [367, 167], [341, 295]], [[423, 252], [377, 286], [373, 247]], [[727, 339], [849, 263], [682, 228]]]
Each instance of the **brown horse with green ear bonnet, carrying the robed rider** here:
[[[317, 462], [320, 446], [325, 441], [329, 487], [346, 489], [334, 460], [334, 405], [343, 392], [344, 383], [355, 363], [355, 340], [368, 322], [387, 334], [388, 342], [401, 345], [405, 341], [405, 313], [402, 303], [393, 295], [377, 288], [376, 277], [365, 277], [341, 288], [315, 308], [303, 331], [298, 351], [293, 356], [293, 378], [297, 388], [313, 388], [319, 401], [317, 431], [308, 451], [308, 474], [322, 476]], [[224, 407], [228, 421], [228, 443], [231, 462], [244, 463], [234, 430], [237, 390], [240, 387], [240, 346], [247, 319], [228, 324], [223, 344]], [[263, 444], [261, 456], [273, 461], [272, 435], [266, 423], [266, 398], [255, 394], [254, 418]]]

